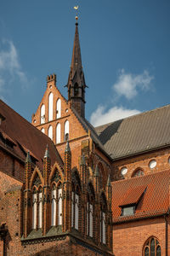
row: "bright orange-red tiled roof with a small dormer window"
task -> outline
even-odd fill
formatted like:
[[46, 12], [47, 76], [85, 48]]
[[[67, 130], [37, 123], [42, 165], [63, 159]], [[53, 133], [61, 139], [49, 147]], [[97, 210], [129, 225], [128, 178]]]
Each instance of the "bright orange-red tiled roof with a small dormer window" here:
[[[113, 182], [113, 223], [150, 218], [166, 213], [169, 209], [169, 185], [170, 170]], [[127, 205], [132, 202], [137, 206], [135, 213], [121, 216], [122, 204]]]

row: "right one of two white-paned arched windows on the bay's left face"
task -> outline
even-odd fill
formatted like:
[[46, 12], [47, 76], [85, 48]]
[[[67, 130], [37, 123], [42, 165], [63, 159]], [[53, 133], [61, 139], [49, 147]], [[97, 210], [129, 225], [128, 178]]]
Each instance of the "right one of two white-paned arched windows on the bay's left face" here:
[[53, 185], [51, 203], [51, 225], [62, 224], [62, 185]]

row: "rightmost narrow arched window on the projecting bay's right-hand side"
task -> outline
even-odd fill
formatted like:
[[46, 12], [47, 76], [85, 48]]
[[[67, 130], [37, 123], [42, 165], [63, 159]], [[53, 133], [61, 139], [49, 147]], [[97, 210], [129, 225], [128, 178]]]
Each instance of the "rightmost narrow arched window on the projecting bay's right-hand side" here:
[[106, 235], [106, 211], [107, 211], [107, 204], [106, 204], [106, 199], [105, 199], [105, 194], [102, 193], [100, 196], [100, 241], [101, 243], [106, 242], [105, 240], [105, 235]]

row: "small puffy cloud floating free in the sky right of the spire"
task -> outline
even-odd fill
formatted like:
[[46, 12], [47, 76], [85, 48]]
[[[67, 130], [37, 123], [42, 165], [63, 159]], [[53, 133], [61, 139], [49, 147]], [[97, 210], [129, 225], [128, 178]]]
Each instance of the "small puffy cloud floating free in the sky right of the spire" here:
[[127, 100], [131, 100], [138, 95], [139, 90], [149, 90], [153, 79], [154, 77], [150, 76], [147, 70], [144, 70], [144, 73], [134, 75], [125, 73], [122, 69], [112, 89], [116, 91], [118, 96], [125, 96]]

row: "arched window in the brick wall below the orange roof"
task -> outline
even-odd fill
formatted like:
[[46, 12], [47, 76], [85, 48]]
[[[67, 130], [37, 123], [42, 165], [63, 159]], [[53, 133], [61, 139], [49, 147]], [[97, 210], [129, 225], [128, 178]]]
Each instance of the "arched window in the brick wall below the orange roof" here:
[[161, 245], [156, 237], [151, 236], [145, 243], [143, 249], [144, 256], [161, 256]]

